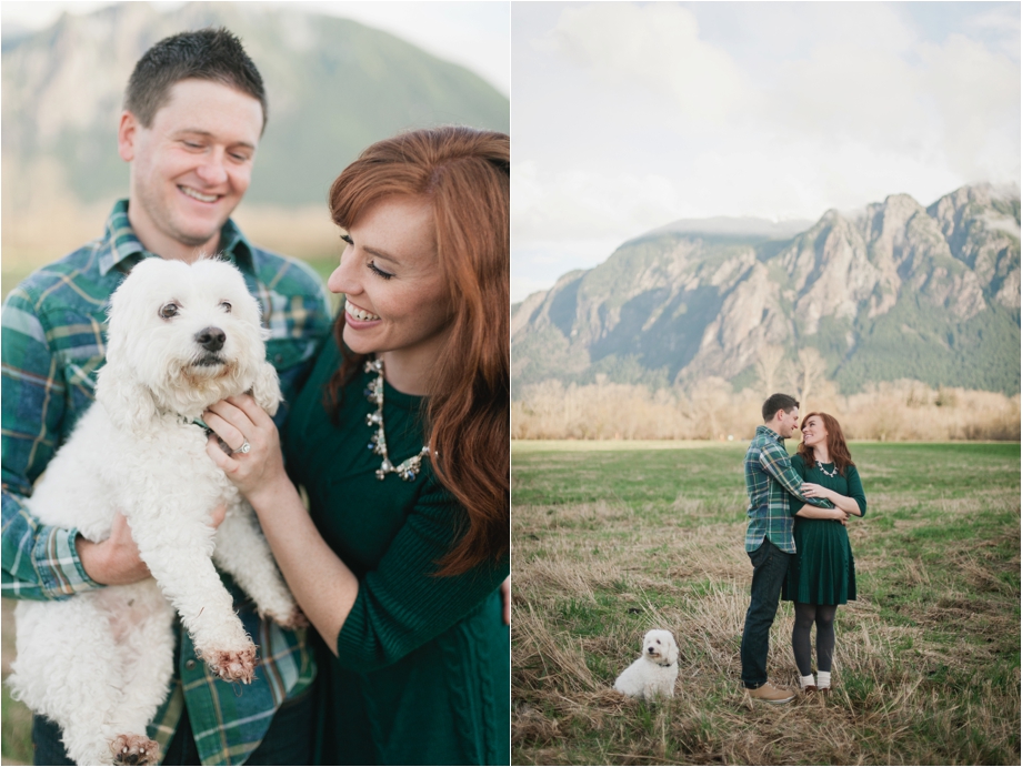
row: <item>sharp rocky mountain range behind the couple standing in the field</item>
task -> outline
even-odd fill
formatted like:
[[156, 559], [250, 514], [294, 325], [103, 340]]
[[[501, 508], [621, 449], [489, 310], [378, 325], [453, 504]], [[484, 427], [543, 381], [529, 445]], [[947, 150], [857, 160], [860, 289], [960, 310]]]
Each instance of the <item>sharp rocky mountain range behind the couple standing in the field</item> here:
[[1018, 189], [964, 186], [828, 211], [798, 233], [770, 222], [675, 222], [563, 275], [512, 313], [512, 379], [757, 381], [814, 349], [845, 393], [915, 379], [1020, 386]]

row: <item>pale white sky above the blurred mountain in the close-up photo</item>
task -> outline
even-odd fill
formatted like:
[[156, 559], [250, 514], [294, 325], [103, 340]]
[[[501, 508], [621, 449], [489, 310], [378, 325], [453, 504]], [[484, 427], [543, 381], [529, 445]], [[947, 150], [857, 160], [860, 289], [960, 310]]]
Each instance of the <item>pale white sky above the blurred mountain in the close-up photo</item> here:
[[[0, 22], [42, 29], [64, 11], [90, 13], [112, 2], [0, 3]], [[154, 2], [180, 8], [183, 2]], [[468, 67], [505, 95], [509, 83], [508, 3], [505, 2], [299, 2], [305, 11], [328, 13], [382, 29], [433, 55]]]

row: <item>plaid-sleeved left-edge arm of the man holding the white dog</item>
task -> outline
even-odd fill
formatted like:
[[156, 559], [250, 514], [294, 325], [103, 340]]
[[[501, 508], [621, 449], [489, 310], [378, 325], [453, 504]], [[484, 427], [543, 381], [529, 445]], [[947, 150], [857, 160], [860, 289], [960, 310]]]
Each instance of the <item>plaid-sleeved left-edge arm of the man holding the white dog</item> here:
[[43, 323], [22, 287], [0, 315], [2, 357], [2, 595], [60, 599], [99, 586], [78, 555], [78, 531], [43, 525], [24, 504], [53, 457], [64, 417], [66, 382]]

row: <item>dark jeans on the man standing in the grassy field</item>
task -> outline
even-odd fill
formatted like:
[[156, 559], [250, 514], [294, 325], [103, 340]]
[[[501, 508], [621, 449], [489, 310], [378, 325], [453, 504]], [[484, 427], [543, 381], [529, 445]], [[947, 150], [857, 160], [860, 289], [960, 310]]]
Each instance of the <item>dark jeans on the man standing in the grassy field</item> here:
[[766, 654], [770, 652], [770, 627], [778, 614], [781, 586], [788, 577], [788, 564], [793, 555], [782, 552], [770, 541], [754, 552], [752, 561], [752, 599], [745, 613], [742, 632], [742, 684], [755, 689], [766, 682]]

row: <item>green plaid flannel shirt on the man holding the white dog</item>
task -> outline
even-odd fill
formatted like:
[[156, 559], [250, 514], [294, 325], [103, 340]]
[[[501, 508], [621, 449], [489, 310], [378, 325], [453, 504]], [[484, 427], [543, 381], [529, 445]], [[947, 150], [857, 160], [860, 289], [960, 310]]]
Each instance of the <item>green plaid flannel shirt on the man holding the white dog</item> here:
[[[280, 373], [285, 402], [297, 395], [319, 343], [329, 332], [330, 301], [307, 265], [248, 243], [233, 222], [220, 233], [223, 254], [244, 275], [270, 331], [267, 356]], [[16, 287], [2, 312], [3, 536], [2, 594], [16, 599], [67, 599], [101, 588], [82, 568], [77, 529], [41, 524], [23, 505], [60, 444], [92, 404], [97, 370], [106, 357], [104, 330], [111, 293], [146, 251], [118, 202], [106, 234]], [[237, 692], [214, 679], [180, 629], [169, 695], [149, 726], [166, 749], [188, 706], [204, 765], [242, 763], [265, 735], [280, 704], [307, 689], [315, 662], [305, 629], [288, 632], [262, 622], [246, 595], [223, 576], [246, 629], [259, 646], [257, 678]]]

